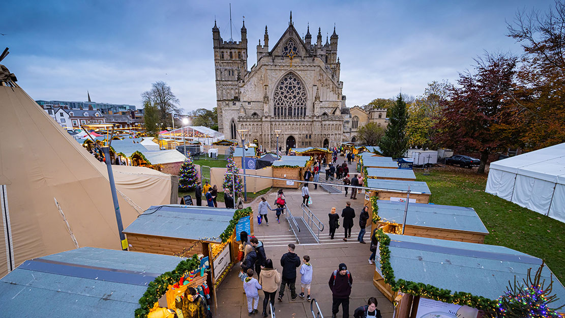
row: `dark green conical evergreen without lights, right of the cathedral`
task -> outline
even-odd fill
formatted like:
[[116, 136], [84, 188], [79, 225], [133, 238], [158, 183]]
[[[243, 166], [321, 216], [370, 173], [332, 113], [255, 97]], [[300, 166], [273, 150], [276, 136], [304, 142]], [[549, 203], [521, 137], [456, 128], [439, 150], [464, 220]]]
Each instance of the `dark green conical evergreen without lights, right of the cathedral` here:
[[407, 122], [406, 103], [402, 99], [402, 94], [398, 94], [396, 104], [390, 108], [389, 125], [386, 127], [385, 136], [379, 142], [383, 155], [401, 158], [406, 153], [408, 150]]

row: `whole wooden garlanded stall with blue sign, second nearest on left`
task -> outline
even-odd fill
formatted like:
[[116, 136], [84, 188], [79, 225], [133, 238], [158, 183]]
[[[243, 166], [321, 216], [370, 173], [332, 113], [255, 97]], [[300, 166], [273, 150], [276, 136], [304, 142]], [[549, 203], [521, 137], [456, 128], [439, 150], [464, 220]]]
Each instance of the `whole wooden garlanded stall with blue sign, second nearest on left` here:
[[198, 206], [152, 206], [124, 229], [130, 251], [210, 257], [208, 285], [217, 287], [237, 262], [239, 238], [253, 233], [251, 208], [243, 210]]

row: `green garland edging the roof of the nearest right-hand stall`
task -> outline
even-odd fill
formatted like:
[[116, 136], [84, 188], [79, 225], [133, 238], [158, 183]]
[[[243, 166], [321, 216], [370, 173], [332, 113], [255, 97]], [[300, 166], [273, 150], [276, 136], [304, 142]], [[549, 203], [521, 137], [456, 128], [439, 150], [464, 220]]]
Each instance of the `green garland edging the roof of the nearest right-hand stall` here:
[[496, 300], [475, 296], [462, 291], [457, 291], [452, 294], [451, 290], [441, 289], [421, 282], [406, 281], [402, 279], [395, 280], [394, 271], [390, 265], [390, 237], [383, 232], [383, 229], [377, 230], [376, 237], [380, 243], [379, 255], [381, 273], [383, 273], [385, 283], [388, 284], [390, 289], [393, 291], [401, 291], [405, 294], [421, 296], [444, 303], [467, 305], [487, 312], [492, 312], [496, 308], [498, 303]]

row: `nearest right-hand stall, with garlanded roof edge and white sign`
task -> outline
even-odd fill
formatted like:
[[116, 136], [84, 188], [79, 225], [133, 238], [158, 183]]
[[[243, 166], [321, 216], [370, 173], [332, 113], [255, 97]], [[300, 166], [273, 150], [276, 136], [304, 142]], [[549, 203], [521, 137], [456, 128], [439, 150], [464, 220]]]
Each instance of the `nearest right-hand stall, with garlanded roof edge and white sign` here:
[[553, 280], [551, 294], [560, 300], [551, 307], [559, 307], [565, 287], [542, 264], [503, 246], [381, 232], [373, 285], [395, 302], [398, 318], [477, 318], [498, 307], [510, 282], [533, 278], [539, 270], [542, 285]]

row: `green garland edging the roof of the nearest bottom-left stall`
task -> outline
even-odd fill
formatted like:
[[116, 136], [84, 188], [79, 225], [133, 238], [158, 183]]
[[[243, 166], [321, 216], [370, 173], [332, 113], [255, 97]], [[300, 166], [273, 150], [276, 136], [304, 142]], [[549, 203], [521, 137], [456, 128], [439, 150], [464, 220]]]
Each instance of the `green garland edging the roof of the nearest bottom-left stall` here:
[[198, 256], [193, 255], [192, 258], [181, 260], [171, 272], [165, 272], [155, 277], [139, 300], [140, 308], [137, 308], [135, 311], [136, 318], [146, 318], [149, 310], [167, 292], [168, 286], [178, 282], [185, 272], [194, 271], [199, 265], [200, 260]]

